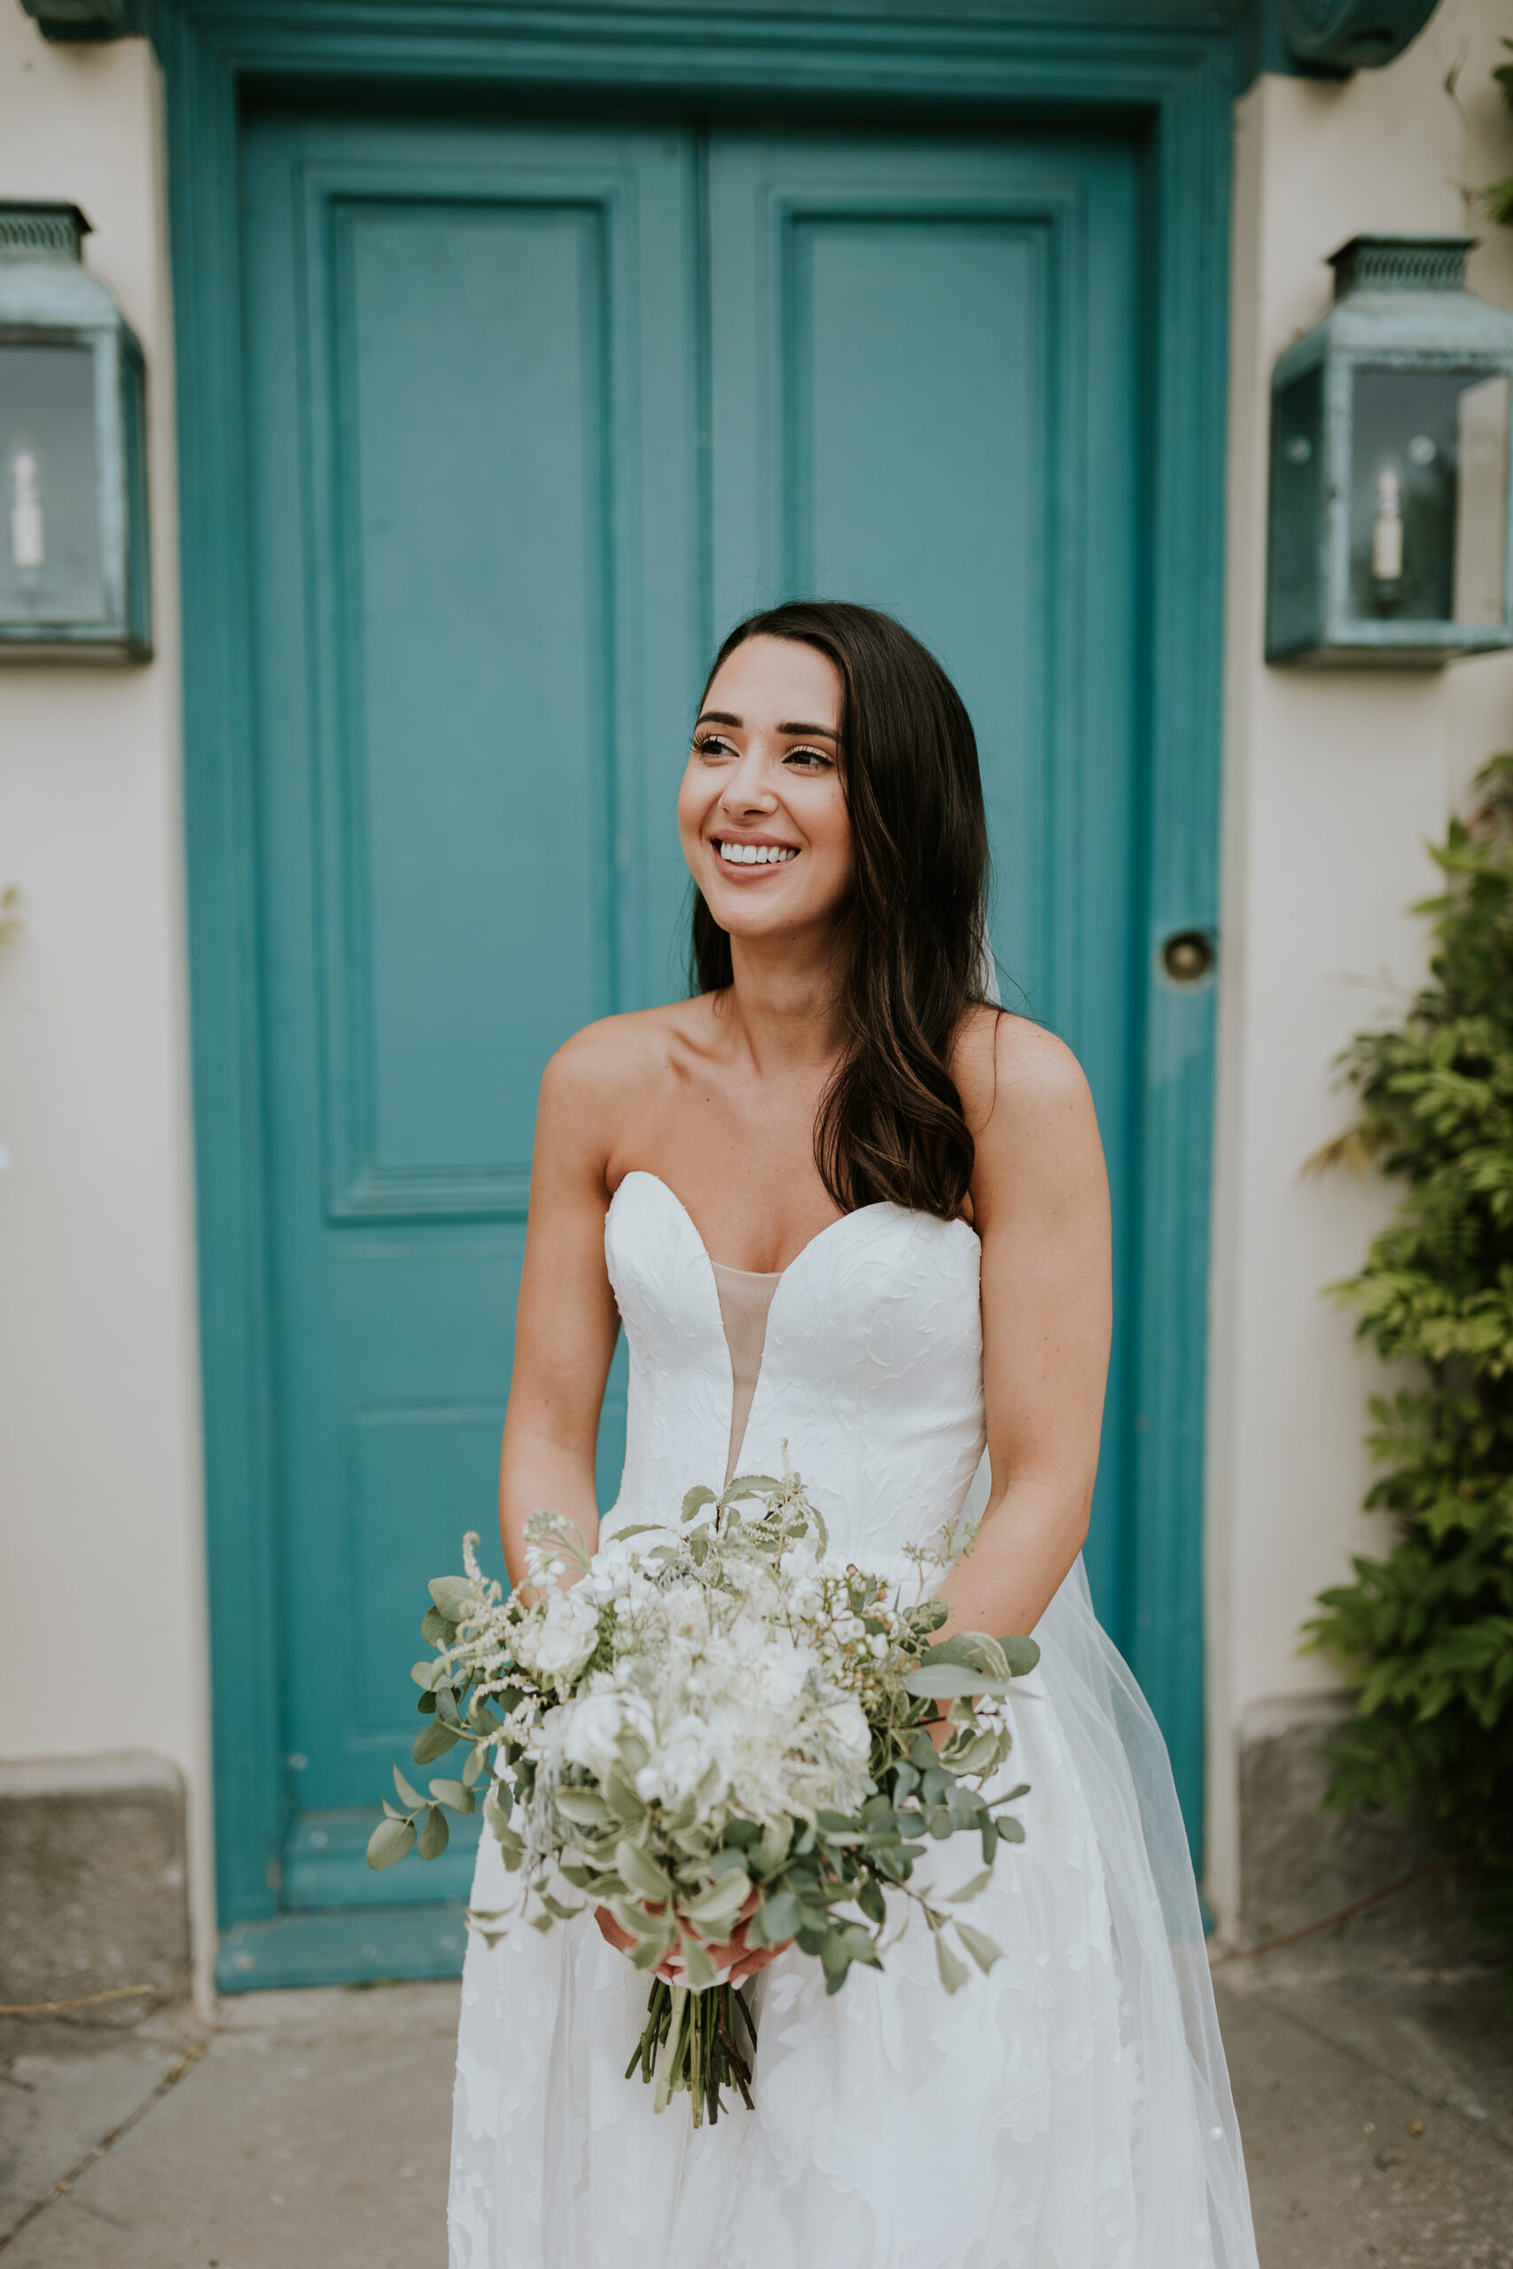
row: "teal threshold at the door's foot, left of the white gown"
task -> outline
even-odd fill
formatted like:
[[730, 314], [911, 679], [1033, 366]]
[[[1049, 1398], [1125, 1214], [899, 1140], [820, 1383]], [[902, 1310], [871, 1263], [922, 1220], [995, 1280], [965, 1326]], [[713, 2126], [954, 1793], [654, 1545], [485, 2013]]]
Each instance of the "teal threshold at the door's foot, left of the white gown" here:
[[218, 1992], [274, 1985], [377, 1985], [388, 1979], [456, 1979], [467, 1949], [467, 1908], [338, 1906], [324, 1915], [270, 1915], [220, 1933]]

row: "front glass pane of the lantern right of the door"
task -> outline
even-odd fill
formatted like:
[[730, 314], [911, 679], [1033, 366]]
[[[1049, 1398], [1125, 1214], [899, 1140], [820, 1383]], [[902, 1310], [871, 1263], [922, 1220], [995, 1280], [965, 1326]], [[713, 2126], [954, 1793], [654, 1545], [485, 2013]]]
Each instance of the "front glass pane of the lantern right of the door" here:
[[1502, 622], [1508, 381], [1363, 365], [1354, 377], [1350, 610]]

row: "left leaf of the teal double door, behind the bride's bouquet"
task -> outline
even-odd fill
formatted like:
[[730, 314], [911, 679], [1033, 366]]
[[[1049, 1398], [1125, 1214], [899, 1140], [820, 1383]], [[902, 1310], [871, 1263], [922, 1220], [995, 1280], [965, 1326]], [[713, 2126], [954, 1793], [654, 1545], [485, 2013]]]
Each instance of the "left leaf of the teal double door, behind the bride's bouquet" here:
[[[665, 982], [696, 678], [692, 150], [247, 143], [284, 1904], [363, 1863], [426, 1577], [492, 1529], [535, 1087]], [[676, 842], [671, 846], [676, 860]], [[674, 901], [676, 903], [676, 901]], [[617, 1370], [603, 1429], [612, 1488]]]

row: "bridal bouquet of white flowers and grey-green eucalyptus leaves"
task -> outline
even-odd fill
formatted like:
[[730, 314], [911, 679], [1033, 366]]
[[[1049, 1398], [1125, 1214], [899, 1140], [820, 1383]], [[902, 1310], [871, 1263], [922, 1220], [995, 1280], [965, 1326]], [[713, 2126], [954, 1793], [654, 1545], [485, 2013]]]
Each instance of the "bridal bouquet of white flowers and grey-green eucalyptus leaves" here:
[[[755, 1507], [749, 1516], [742, 1507]], [[853, 1963], [882, 1965], [889, 1895], [935, 1933], [941, 1985], [989, 1969], [998, 1947], [914, 1883], [932, 1838], [975, 1833], [984, 1888], [1007, 1813], [982, 1783], [1009, 1754], [1003, 1697], [1032, 1670], [1030, 1638], [964, 1634], [932, 1645], [937, 1600], [839, 1566], [798, 1475], [744, 1475], [721, 1498], [692, 1488], [674, 1525], [619, 1529], [592, 1559], [553, 1513], [529, 1529], [529, 1584], [501, 1593], [463, 1545], [463, 1577], [431, 1584], [415, 1663], [415, 1761], [458, 1745], [458, 1779], [422, 1797], [395, 1768], [367, 1847], [372, 1867], [447, 1845], [442, 1806], [499, 1840], [510, 1906], [474, 1915], [497, 1942], [608, 1908], [651, 2001], [640, 2067], [662, 2110], [687, 2087], [694, 2126], [721, 2087], [751, 2106], [755, 2026], [730, 1983], [739, 1954], [789, 1940], [837, 1992]], [[923, 1593], [939, 1557], [910, 1554]], [[578, 1581], [563, 1586], [567, 1568]], [[930, 1727], [948, 1734], [937, 1749]], [[744, 2028], [744, 2040], [742, 2040]]]

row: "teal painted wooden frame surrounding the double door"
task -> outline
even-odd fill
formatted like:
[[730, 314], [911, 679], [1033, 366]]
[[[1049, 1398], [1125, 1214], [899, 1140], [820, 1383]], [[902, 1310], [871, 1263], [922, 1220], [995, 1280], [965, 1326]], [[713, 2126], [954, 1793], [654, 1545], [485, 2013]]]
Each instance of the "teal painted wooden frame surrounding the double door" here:
[[[637, 102], [789, 120], [1118, 125], [1143, 150], [1143, 905], [1148, 958], [1130, 1239], [1139, 1554], [1127, 1627], [1200, 1817], [1202, 1443], [1214, 982], [1159, 942], [1218, 926], [1229, 136], [1243, 0], [157, 0], [166, 73], [184, 563], [184, 826], [197, 1155], [206, 1559], [222, 1990], [456, 1967], [395, 1908], [279, 1913], [277, 1484], [256, 962], [252, 615], [238, 113], [247, 95], [565, 109]], [[1146, 1518], [1141, 1518], [1141, 1511]], [[1198, 1838], [1200, 1842], [1200, 1838]]]

